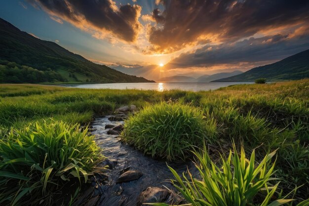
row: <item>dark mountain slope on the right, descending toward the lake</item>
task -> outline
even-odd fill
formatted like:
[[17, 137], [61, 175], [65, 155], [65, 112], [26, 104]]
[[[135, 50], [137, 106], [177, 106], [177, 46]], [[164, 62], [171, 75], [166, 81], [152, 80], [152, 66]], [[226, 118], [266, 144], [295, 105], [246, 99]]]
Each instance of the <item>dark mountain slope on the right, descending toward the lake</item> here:
[[268, 82], [309, 78], [309, 49], [273, 64], [213, 82], [253, 82], [259, 78], [266, 78]]

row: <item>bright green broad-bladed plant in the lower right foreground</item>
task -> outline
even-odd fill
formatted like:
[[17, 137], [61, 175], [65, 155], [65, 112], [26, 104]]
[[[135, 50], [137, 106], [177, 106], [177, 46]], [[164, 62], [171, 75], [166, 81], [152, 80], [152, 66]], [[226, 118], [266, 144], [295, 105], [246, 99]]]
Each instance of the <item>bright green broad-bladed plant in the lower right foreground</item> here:
[[279, 184], [273, 187], [269, 185], [274, 172], [274, 163], [271, 164], [270, 161], [276, 151], [267, 154], [259, 165], [255, 163], [254, 151], [250, 159], [246, 159], [243, 148], [240, 157], [230, 151], [227, 159], [221, 156], [220, 166], [212, 162], [205, 149], [201, 153], [193, 153], [197, 159], [195, 166], [199, 171], [198, 177], [201, 179], [193, 178], [189, 170], [189, 178], [185, 173], [181, 178], [169, 167], [176, 178], [172, 180], [173, 185], [192, 206], [251, 206], [261, 190], [264, 190], [266, 197], [259, 206], [280, 206], [292, 201], [282, 198], [269, 204]]

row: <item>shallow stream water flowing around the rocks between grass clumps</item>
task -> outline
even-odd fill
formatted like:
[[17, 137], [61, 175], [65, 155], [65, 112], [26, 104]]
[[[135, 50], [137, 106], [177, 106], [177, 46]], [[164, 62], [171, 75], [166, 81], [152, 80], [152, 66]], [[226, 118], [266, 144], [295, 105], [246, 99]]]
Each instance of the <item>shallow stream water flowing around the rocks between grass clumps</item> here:
[[[136, 206], [138, 196], [148, 187], [164, 188], [164, 185], [173, 189], [171, 183], [167, 181], [174, 179], [167, 163], [144, 156], [142, 152], [121, 142], [118, 135], [107, 134], [109, 129], [105, 129], [106, 124], [124, 123], [111, 122], [109, 117], [111, 116], [96, 118], [91, 124], [91, 133], [95, 135], [95, 141], [104, 149], [103, 155], [108, 159], [105, 164], [110, 165], [110, 169], [105, 172], [107, 177], [96, 180], [96, 185], [93, 185], [96, 189], [93, 196], [100, 196], [94, 206]], [[192, 162], [168, 163], [168, 165], [179, 174], [186, 171], [187, 166], [191, 171], [195, 170]], [[138, 180], [116, 184], [120, 174], [127, 170], [138, 170], [143, 175]]]

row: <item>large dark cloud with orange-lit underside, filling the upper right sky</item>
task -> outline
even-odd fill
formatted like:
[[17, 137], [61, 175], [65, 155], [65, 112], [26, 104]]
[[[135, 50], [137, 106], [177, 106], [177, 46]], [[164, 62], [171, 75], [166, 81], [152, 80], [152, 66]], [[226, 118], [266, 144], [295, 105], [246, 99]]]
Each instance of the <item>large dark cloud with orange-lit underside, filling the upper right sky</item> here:
[[[260, 31], [309, 21], [309, 0], [158, 0], [160, 24], [145, 53], [169, 53], [203, 41], [232, 42]], [[158, 19], [159, 17], [159, 19]]]

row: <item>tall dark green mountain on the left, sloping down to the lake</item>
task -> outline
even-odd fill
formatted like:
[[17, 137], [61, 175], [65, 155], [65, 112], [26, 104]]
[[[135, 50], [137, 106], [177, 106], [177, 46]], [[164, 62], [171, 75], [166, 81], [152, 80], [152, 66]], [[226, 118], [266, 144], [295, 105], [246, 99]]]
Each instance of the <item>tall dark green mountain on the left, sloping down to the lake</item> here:
[[153, 82], [95, 64], [0, 18], [0, 82]]

